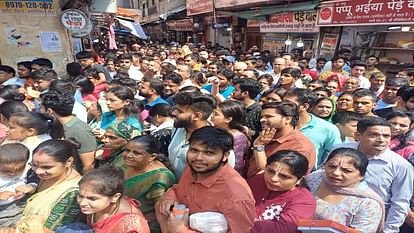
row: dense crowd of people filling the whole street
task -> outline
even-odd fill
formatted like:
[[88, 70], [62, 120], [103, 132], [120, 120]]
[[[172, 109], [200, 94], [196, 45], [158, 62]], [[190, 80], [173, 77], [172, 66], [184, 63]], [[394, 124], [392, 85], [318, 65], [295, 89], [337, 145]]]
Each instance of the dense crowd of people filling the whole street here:
[[414, 70], [204, 45], [0, 65], [0, 233], [414, 232]]

